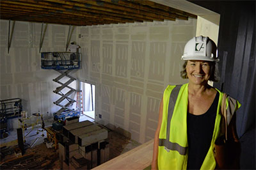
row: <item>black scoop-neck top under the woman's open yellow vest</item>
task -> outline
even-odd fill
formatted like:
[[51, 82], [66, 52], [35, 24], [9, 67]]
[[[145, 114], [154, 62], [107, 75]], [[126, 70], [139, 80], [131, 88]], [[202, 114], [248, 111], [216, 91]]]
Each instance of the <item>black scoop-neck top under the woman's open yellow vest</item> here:
[[211, 107], [201, 115], [188, 113], [188, 166], [200, 169], [211, 146], [214, 123], [220, 94], [217, 92]]

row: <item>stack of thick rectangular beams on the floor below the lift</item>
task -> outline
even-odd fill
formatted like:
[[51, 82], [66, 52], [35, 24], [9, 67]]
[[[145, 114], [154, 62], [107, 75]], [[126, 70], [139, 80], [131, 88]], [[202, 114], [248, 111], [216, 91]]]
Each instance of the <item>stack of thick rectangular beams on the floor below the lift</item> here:
[[109, 159], [108, 130], [86, 120], [63, 127], [61, 169], [92, 169]]

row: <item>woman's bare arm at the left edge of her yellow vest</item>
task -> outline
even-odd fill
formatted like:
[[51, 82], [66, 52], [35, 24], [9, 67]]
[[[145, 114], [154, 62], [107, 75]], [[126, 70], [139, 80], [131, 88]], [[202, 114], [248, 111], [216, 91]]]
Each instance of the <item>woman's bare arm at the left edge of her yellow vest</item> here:
[[159, 107], [158, 125], [156, 129], [155, 140], [154, 140], [154, 150], [153, 150], [153, 159], [152, 159], [151, 169], [158, 169], [158, 166], [157, 166], [158, 143], [159, 143], [159, 132], [162, 124], [162, 118], [163, 118], [163, 98], [161, 100], [160, 107]]

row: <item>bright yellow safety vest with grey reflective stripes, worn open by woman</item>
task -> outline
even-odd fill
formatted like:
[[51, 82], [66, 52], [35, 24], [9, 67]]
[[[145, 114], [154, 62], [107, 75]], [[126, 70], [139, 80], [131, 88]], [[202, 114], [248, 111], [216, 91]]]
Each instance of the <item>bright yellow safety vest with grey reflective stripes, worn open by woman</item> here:
[[[214, 169], [214, 143], [220, 136], [221, 100], [220, 93], [214, 132], [211, 146], [201, 169]], [[237, 100], [227, 97], [228, 123], [232, 115], [241, 106]], [[159, 169], [186, 169], [188, 162], [188, 137], [187, 137], [187, 112], [188, 112], [188, 84], [168, 86], [163, 95], [163, 120], [159, 133], [158, 168]]]

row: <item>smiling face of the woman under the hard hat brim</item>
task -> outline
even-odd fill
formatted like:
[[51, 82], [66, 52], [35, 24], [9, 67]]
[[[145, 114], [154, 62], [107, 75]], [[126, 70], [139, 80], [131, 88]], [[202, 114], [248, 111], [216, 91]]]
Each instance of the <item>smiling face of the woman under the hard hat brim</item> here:
[[210, 63], [202, 60], [189, 60], [186, 66], [189, 83], [206, 85], [210, 79]]

